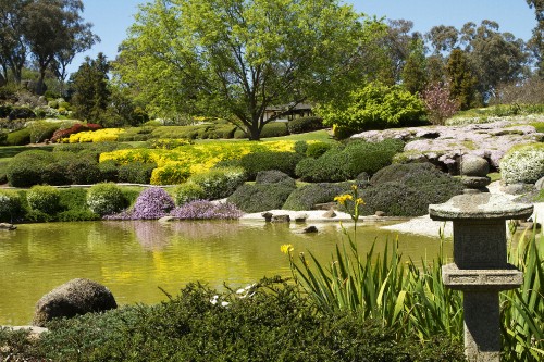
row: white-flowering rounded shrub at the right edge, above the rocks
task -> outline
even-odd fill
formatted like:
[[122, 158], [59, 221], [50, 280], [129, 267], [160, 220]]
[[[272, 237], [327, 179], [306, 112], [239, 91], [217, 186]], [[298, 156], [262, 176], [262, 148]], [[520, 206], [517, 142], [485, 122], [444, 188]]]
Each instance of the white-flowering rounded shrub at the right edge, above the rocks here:
[[506, 184], [533, 184], [544, 176], [544, 143], [512, 147], [500, 160]]

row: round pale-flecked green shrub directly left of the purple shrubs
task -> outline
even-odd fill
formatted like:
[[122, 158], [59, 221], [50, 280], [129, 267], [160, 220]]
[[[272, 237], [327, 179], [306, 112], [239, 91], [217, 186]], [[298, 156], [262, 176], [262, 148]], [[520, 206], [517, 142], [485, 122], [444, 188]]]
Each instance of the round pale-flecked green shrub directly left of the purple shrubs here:
[[94, 213], [104, 216], [120, 212], [128, 202], [115, 184], [104, 183], [88, 189], [87, 205]]

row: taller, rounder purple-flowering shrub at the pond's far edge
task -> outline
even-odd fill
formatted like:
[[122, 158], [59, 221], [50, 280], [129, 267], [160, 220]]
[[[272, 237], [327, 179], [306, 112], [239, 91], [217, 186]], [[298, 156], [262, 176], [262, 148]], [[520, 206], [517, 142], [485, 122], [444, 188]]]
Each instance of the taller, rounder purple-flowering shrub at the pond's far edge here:
[[146, 188], [140, 192], [132, 211], [133, 219], [160, 219], [174, 209], [174, 200], [160, 187]]

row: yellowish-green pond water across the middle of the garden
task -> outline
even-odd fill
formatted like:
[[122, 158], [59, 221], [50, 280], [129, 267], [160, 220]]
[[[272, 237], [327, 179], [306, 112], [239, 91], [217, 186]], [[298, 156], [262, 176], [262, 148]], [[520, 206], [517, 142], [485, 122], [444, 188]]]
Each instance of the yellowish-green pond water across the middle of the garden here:
[[[299, 234], [295, 224], [263, 222], [82, 222], [23, 224], [0, 233], [0, 325], [32, 321], [36, 301], [76, 277], [94, 279], [113, 292], [119, 304], [154, 303], [176, 295], [188, 282], [214, 288], [223, 282], [245, 286], [263, 276], [288, 276], [287, 257], [311, 250], [330, 260], [343, 235], [337, 223], [318, 224], [318, 234]], [[376, 239], [378, 249], [396, 233], [375, 225], [358, 228], [361, 251]], [[450, 253], [450, 242], [446, 244]], [[399, 235], [404, 255], [437, 254], [437, 238]]]

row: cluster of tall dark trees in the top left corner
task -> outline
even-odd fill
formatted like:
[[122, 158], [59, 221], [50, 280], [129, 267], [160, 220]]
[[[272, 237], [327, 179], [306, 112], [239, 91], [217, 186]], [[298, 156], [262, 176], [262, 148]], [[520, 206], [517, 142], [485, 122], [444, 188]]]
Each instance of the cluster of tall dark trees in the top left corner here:
[[38, 74], [36, 93], [45, 92], [47, 72], [62, 88], [74, 57], [100, 40], [83, 10], [82, 0], [0, 0], [0, 85], [20, 85], [30, 67]]

